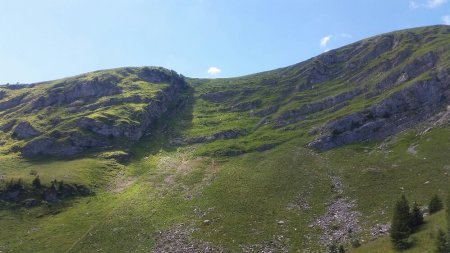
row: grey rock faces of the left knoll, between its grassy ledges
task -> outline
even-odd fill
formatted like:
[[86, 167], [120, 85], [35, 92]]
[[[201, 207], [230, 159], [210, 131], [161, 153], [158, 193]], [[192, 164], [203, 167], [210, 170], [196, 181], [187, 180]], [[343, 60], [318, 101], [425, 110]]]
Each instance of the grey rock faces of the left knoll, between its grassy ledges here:
[[[130, 70], [131, 71], [131, 70]], [[133, 72], [134, 73], [134, 72]], [[125, 98], [107, 98], [92, 103], [91, 99], [109, 96], [120, 92], [117, 87], [118, 80], [115, 77], [106, 76], [102, 79], [94, 78], [91, 81], [69, 80], [52, 87], [50, 95], [41, 97], [33, 102], [33, 108], [39, 109], [47, 106], [66, 106], [67, 111], [81, 112], [95, 110], [121, 103], [147, 103], [144, 110], [132, 115], [136, 123], [119, 123], [114, 119], [97, 120], [89, 117], [80, 117], [73, 124], [78, 131], [58, 132], [53, 131], [39, 139], [31, 140], [21, 150], [24, 157], [36, 155], [48, 155], [57, 157], [73, 156], [88, 149], [106, 149], [121, 139], [123, 145], [138, 141], [147, 128], [159, 119], [169, 108], [177, 102], [178, 93], [186, 87], [183, 76], [173, 71], [164, 69], [143, 68], [138, 72], [141, 79], [148, 82], [164, 82], [169, 85], [155, 94], [152, 99], [142, 99], [140, 96]], [[89, 105], [84, 106], [86, 101]], [[81, 107], [76, 107], [80, 105]], [[55, 118], [51, 124], [60, 124], [60, 119]]]

